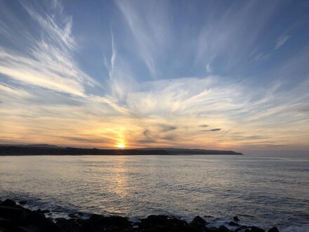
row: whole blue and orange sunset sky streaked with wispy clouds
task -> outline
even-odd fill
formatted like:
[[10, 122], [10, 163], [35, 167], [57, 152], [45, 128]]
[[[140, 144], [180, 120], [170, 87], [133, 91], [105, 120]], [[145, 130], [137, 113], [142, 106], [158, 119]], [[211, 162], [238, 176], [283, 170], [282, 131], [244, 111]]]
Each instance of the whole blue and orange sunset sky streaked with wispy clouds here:
[[0, 143], [309, 150], [309, 1], [0, 0]]

